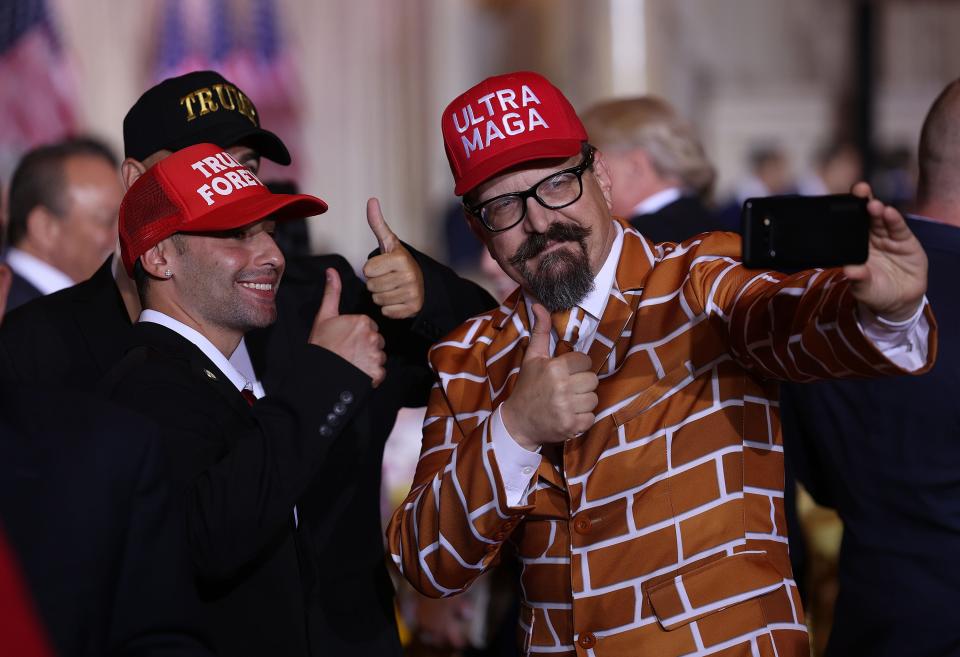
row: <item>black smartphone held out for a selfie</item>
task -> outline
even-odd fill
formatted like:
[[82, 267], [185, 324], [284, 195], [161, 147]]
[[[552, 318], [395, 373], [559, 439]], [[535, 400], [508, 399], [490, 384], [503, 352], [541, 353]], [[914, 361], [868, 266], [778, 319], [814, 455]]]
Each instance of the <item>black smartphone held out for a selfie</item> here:
[[852, 194], [748, 198], [740, 213], [743, 264], [796, 271], [867, 260], [867, 199]]

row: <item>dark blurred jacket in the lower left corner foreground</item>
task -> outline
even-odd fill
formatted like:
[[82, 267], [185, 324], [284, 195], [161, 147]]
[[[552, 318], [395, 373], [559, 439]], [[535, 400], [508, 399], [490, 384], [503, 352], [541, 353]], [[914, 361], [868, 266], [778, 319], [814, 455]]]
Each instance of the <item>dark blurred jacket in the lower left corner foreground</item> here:
[[210, 654], [162, 463], [129, 411], [0, 386], [0, 525], [63, 657]]

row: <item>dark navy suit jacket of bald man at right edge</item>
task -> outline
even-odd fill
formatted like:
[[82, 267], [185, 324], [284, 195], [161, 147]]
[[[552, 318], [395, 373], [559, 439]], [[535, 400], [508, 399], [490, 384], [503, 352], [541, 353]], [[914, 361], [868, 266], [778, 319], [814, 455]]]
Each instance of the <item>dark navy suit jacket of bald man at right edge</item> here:
[[783, 386], [786, 454], [844, 523], [830, 655], [960, 655], [960, 229], [908, 223], [930, 263], [933, 369]]

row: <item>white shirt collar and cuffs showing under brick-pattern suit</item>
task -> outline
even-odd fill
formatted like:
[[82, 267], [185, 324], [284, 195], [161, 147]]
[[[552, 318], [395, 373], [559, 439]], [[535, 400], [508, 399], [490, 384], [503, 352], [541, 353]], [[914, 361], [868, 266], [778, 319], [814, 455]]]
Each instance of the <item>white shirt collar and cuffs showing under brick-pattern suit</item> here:
[[[594, 288], [580, 303], [584, 310], [584, 318], [580, 324], [580, 333], [576, 351], [587, 352], [593, 344], [600, 318], [606, 310], [610, 291], [616, 285], [617, 264], [620, 261], [620, 252], [623, 249], [623, 228], [615, 223], [617, 234], [614, 237], [610, 254], [603, 263], [603, 267], [594, 279]], [[533, 317], [531, 310], [534, 300], [526, 293], [523, 295], [527, 305], [527, 316]], [[858, 323], [863, 334], [885, 357], [907, 371], [920, 369], [927, 360], [927, 336], [930, 325], [923, 314], [927, 306], [927, 298], [917, 308], [913, 317], [902, 322], [891, 322], [877, 317], [866, 307], [858, 309]], [[553, 330], [550, 331], [550, 353], [556, 348], [557, 340]], [[521, 447], [507, 431], [501, 416], [501, 403], [490, 418], [490, 434], [493, 442], [493, 454], [500, 469], [503, 486], [507, 493], [507, 504], [518, 506], [526, 502], [531, 492], [533, 476], [540, 466], [539, 451], [531, 452]]]

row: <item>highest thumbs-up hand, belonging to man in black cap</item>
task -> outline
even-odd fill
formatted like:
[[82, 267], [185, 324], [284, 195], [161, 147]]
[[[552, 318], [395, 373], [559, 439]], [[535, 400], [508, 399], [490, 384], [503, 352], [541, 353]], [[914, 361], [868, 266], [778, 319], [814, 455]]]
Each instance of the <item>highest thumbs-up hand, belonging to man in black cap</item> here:
[[380, 211], [380, 202], [375, 198], [367, 201], [367, 223], [380, 244], [380, 255], [370, 258], [363, 266], [367, 289], [384, 317], [413, 317], [423, 308], [420, 266], [390, 230]]

